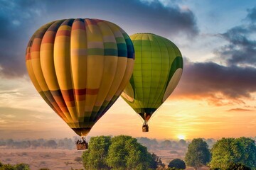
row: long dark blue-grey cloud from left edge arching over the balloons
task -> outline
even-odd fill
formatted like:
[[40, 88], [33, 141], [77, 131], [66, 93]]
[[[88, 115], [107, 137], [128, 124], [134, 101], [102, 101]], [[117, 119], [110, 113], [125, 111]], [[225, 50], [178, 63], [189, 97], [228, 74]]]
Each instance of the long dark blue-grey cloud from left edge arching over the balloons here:
[[37, 28], [62, 18], [102, 18], [117, 23], [127, 33], [151, 32], [163, 36], [198, 33], [192, 11], [178, 6], [164, 7], [159, 1], [146, 4], [138, 0], [1, 0], [0, 75], [26, 74], [26, 45]]

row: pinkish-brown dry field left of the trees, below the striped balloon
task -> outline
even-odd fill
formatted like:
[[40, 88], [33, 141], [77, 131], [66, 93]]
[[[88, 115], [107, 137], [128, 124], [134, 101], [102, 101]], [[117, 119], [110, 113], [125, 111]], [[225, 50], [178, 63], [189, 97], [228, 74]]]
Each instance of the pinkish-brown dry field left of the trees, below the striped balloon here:
[[51, 170], [82, 169], [82, 164], [75, 162], [82, 151], [75, 149], [0, 149], [0, 162], [3, 164], [29, 164], [31, 170], [49, 168]]

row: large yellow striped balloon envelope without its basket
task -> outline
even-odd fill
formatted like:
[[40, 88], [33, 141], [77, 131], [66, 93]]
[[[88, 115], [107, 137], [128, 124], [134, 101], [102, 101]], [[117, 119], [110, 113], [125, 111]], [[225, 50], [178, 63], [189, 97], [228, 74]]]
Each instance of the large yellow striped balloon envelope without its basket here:
[[132, 75], [134, 47], [108, 21], [53, 21], [28, 42], [26, 67], [38, 93], [78, 135], [86, 136]]

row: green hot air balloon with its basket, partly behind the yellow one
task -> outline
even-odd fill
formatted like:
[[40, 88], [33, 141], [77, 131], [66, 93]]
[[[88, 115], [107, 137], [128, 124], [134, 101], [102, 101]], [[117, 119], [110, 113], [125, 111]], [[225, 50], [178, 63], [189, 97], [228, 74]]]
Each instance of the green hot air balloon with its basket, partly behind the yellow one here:
[[122, 98], [142, 117], [148, 132], [151, 115], [171, 95], [181, 79], [183, 60], [170, 40], [151, 33], [130, 36], [135, 50], [134, 70]]

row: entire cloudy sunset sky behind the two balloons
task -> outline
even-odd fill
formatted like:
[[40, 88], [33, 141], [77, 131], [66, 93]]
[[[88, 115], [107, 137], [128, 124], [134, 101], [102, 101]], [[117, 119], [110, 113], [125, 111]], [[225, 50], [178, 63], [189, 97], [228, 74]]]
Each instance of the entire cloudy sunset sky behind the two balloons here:
[[161, 35], [183, 55], [181, 81], [151, 118], [149, 132], [119, 98], [90, 136], [256, 136], [255, 1], [0, 0], [0, 138], [75, 136], [37, 93], [25, 64], [31, 35], [63, 18], [99, 18], [128, 35]]

